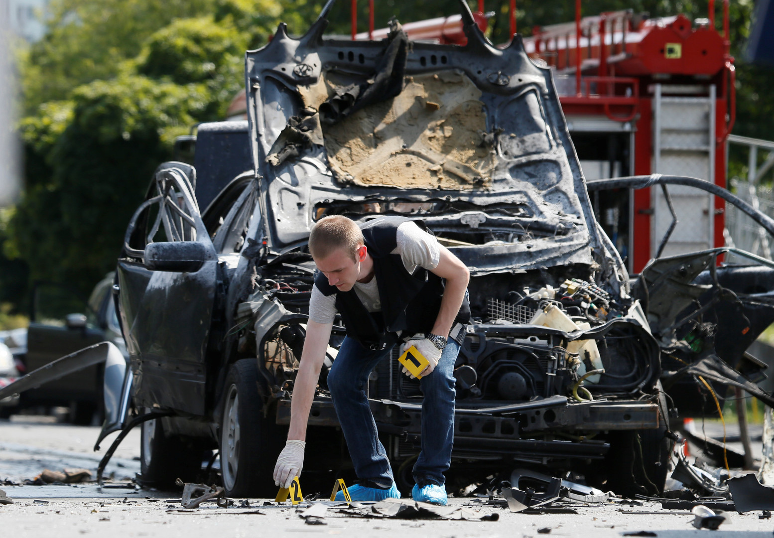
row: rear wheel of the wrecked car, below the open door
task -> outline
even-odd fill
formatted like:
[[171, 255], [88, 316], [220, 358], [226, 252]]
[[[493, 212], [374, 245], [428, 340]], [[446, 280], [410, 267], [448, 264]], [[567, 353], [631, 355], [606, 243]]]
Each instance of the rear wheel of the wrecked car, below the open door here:
[[[146, 408], [146, 413], [149, 409]], [[202, 451], [167, 435], [161, 419], [140, 424], [140, 475], [143, 485], [174, 488], [177, 478], [196, 481], [201, 470]]]

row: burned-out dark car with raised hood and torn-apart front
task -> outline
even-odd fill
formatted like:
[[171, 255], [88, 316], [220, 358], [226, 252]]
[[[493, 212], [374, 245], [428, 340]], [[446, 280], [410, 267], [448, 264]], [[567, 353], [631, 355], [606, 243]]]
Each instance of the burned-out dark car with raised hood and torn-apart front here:
[[[247, 53], [248, 159], [207, 146], [244, 124], [201, 125], [201, 166], [159, 166], [128, 226], [115, 290], [132, 397], [152, 418], [142, 480], [188, 480], [217, 450], [227, 495], [274, 495], [316, 270], [310, 228], [329, 214], [404, 215], [471, 270], [447, 487], [530, 468], [659, 492], [676, 413], [662, 384], [680, 370], [666, 358], [711, 381], [737, 376], [744, 342], [774, 319], [772, 269], [755, 277], [762, 288], [731, 291], [735, 268], [715, 271], [717, 253], [656, 260], [632, 292], [594, 218], [550, 70], [518, 37], [493, 46], [461, 2], [465, 46], [409, 42], [397, 23], [380, 41], [331, 39], [331, 3], [304, 36], [281, 25]], [[721, 324], [694, 327], [724, 300], [758, 309], [729, 350], [712, 341]], [[337, 324], [328, 366], [344, 334]], [[368, 397], [408, 491], [422, 396], [396, 354]], [[305, 490], [351, 478], [325, 372], [309, 424]]]

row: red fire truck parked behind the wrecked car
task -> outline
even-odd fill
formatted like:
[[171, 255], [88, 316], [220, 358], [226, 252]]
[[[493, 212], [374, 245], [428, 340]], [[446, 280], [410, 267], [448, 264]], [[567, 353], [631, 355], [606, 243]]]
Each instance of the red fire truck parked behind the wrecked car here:
[[[708, 8], [706, 19], [694, 21], [631, 11], [577, 16], [524, 40], [528, 53], [556, 69], [587, 180], [662, 173], [726, 187], [725, 141], [735, 116], [728, 0], [722, 33], [714, 0]], [[670, 194], [680, 222], [659, 254], [724, 245], [723, 200], [689, 187], [670, 187]], [[663, 192], [608, 190], [593, 197], [603, 228], [639, 272], [672, 223]]]

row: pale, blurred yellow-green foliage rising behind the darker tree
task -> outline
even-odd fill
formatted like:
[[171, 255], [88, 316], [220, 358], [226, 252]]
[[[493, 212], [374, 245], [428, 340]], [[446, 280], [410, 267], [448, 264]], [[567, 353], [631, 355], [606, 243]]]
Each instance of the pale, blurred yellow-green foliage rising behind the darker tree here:
[[20, 53], [28, 114], [81, 84], [117, 76], [149, 36], [177, 19], [230, 21], [257, 45], [282, 9], [271, 0], [53, 0], [49, 10], [46, 35]]

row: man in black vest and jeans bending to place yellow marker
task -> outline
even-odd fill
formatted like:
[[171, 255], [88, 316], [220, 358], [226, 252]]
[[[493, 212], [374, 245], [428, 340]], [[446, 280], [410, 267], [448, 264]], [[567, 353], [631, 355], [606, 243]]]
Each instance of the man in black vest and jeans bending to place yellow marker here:
[[[312, 228], [309, 249], [319, 272], [293, 386], [288, 440], [274, 469], [276, 485], [288, 487], [303, 468], [307, 420], [338, 313], [347, 336], [327, 385], [360, 481], [349, 488], [352, 500], [400, 497], [365, 388], [377, 363], [402, 344], [401, 351], [413, 345], [430, 361], [420, 380], [422, 451], [413, 468], [412, 497], [445, 505], [444, 472], [454, 440], [454, 362], [470, 319], [467, 267], [423, 221], [405, 217], [359, 225], [341, 215], [325, 217]], [[344, 500], [341, 492], [337, 499]]]

